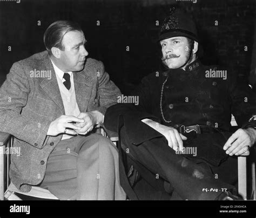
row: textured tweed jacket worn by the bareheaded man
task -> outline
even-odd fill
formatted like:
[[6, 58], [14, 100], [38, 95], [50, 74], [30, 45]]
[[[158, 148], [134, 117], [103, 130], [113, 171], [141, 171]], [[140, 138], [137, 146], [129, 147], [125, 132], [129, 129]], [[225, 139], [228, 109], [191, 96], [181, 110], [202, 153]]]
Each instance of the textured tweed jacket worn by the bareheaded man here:
[[[32, 71], [51, 72], [51, 78], [37, 77]], [[86, 59], [84, 69], [74, 72], [73, 79], [80, 112], [105, 114], [107, 107], [117, 103], [120, 91], [102, 62]], [[63, 114], [48, 52], [14, 63], [0, 89], [0, 131], [14, 135], [14, 147], [21, 148], [19, 155], [11, 155], [10, 178], [22, 192], [42, 182], [48, 157], [62, 138], [62, 134], [51, 137], [47, 132], [50, 123]]]

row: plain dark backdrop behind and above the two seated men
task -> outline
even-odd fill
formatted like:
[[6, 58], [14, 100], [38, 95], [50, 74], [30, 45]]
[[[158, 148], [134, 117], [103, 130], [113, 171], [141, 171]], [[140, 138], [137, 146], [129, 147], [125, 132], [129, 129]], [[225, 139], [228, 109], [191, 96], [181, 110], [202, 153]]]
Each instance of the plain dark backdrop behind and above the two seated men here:
[[69, 19], [82, 26], [89, 42], [89, 56], [102, 60], [114, 83], [129, 94], [144, 76], [158, 69], [160, 47], [156, 41], [160, 26], [156, 21], [161, 25], [171, 5], [184, 8], [196, 19], [204, 64], [227, 66], [254, 85], [255, 4], [255, 0], [0, 2], [0, 85], [14, 62], [45, 50], [43, 34], [52, 22]]

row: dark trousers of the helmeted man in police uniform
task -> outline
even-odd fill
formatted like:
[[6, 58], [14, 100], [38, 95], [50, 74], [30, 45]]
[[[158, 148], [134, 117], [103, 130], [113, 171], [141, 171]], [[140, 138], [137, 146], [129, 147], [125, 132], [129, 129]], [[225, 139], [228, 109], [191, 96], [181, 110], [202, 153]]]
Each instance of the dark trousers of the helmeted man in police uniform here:
[[[176, 154], [164, 137], [136, 146], [127, 137], [124, 127], [121, 141], [125, 153], [134, 162], [153, 173], [155, 180], [168, 181], [183, 200], [214, 200], [225, 190], [235, 190], [232, 183], [237, 179], [237, 159], [228, 158], [220, 166], [213, 167], [198, 158], [188, 159], [183, 154]], [[152, 179], [147, 182], [157, 183]]]

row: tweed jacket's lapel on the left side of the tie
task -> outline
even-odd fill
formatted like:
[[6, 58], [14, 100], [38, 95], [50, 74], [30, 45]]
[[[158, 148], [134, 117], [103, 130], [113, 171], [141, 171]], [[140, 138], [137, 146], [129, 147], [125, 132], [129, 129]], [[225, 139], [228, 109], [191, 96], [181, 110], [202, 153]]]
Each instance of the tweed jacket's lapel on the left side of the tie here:
[[43, 88], [43, 90], [48, 94], [48, 96], [53, 100], [53, 102], [58, 105], [62, 113], [65, 114], [65, 109], [62, 102], [62, 96], [59, 91], [58, 81], [57, 81], [56, 74], [53, 69], [53, 65], [51, 63], [49, 56], [47, 56], [43, 60], [42, 67], [44, 68], [42, 70], [51, 71], [51, 79], [44, 78], [41, 81], [40, 85]]

